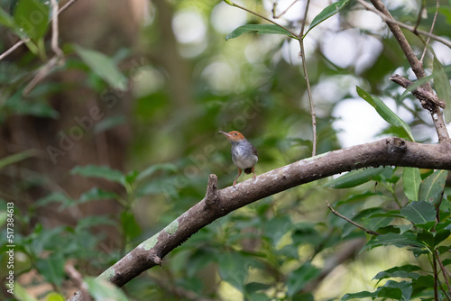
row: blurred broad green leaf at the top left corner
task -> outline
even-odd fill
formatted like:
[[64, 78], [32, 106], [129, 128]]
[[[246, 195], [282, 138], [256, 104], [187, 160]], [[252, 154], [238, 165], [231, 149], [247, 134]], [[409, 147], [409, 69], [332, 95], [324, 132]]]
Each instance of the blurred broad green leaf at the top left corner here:
[[14, 11], [15, 23], [32, 40], [44, 36], [49, 24], [50, 6], [36, 0], [21, 0]]

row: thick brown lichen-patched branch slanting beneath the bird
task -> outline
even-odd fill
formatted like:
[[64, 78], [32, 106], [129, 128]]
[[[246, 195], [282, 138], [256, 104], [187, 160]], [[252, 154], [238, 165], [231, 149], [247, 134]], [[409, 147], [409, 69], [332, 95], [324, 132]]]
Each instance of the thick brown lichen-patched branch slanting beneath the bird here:
[[[387, 138], [300, 160], [268, 171], [255, 180], [246, 180], [236, 185], [236, 189], [226, 187], [216, 192], [213, 192], [215, 178], [211, 177], [210, 193], [207, 193], [207, 197], [214, 196], [214, 202], [204, 198], [160, 233], [156, 233], [114, 266], [106, 269], [99, 277], [107, 278], [116, 286], [122, 287], [144, 270], [161, 263], [164, 256], [187, 241], [199, 229], [244, 205], [320, 178], [381, 165], [451, 169], [451, 144], [420, 144], [400, 138]], [[82, 299], [80, 294], [71, 298]]]

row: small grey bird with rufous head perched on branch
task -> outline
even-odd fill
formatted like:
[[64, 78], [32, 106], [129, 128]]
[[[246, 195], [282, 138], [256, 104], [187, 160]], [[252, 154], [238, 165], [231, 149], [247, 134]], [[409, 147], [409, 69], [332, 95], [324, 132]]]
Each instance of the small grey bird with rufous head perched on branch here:
[[227, 140], [232, 144], [232, 160], [236, 168], [238, 168], [238, 176], [235, 178], [234, 187], [236, 180], [241, 175], [242, 169], [244, 169], [246, 174], [253, 172], [253, 179], [255, 179], [254, 166], [258, 161], [258, 153], [255, 147], [244, 138], [241, 132], [219, 132], [225, 135]]

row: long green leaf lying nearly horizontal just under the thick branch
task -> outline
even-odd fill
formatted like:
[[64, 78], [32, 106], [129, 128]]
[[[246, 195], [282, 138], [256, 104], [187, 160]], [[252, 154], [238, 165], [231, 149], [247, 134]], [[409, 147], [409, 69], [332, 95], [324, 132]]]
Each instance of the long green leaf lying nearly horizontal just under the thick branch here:
[[362, 185], [368, 181], [371, 181], [374, 177], [382, 173], [384, 167], [357, 169], [345, 173], [345, 175], [330, 180], [323, 187], [331, 187], [336, 189], [356, 187]]

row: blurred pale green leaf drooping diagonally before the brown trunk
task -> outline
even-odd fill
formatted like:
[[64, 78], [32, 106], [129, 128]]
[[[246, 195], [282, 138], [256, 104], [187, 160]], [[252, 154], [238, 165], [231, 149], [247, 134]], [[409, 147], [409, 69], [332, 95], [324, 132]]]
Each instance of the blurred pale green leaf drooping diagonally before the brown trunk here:
[[96, 50], [87, 50], [74, 45], [74, 50], [91, 70], [100, 78], [104, 79], [108, 85], [115, 89], [125, 91], [127, 89], [127, 78], [117, 68], [115, 61], [105, 54]]

